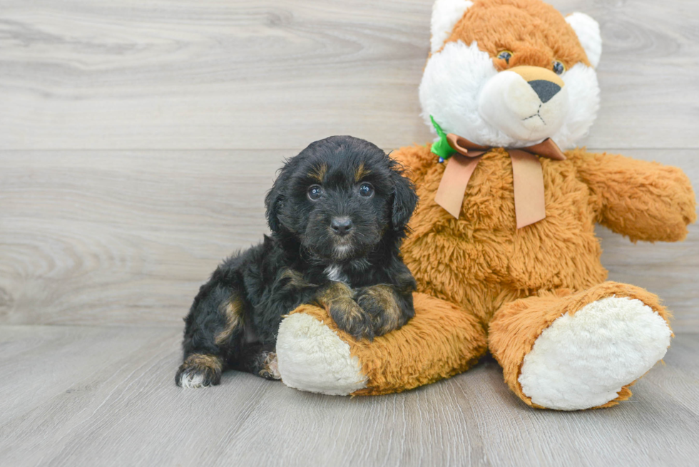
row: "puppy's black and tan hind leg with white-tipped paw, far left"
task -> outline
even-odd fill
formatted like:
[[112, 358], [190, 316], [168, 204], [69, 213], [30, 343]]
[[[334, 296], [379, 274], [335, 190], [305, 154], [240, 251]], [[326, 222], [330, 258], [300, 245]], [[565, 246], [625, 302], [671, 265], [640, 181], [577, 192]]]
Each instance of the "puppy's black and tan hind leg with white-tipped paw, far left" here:
[[184, 361], [175, 383], [184, 388], [220, 383], [225, 362], [240, 349], [244, 304], [239, 294], [212, 279], [195, 298], [185, 319]]

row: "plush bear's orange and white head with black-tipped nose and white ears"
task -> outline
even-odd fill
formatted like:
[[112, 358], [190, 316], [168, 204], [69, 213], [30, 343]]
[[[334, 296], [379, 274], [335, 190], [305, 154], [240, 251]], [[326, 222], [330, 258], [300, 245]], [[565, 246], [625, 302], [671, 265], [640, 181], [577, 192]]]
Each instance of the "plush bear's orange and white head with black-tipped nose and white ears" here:
[[437, 0], [420, 83], [425, 123], [476, 144], [561, 148], [588, 132], [599, 107], [602, 40], [586, 14], [541, 0]]

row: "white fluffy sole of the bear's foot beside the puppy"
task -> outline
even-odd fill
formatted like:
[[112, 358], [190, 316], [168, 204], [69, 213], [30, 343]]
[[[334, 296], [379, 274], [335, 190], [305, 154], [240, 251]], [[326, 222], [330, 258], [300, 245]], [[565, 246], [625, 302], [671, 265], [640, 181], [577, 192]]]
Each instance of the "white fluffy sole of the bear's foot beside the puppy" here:
[[346, 396], [367, 387], [350, 345], [314, 317], [296, 313], [282, 320], [277, 336], [282, 382], [301, 391]]

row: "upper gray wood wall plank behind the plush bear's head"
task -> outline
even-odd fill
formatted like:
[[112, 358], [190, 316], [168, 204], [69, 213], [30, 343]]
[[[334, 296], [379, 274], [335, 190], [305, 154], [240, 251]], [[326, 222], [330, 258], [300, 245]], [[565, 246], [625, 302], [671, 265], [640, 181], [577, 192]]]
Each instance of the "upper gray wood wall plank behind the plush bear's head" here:
[[[589, 145], [696, 146], [699, 4], [551, 3], [601, 22]], [[431, 5], [4, 0], [0, 148], [280, 149], [331, 134], [424, 143]]]

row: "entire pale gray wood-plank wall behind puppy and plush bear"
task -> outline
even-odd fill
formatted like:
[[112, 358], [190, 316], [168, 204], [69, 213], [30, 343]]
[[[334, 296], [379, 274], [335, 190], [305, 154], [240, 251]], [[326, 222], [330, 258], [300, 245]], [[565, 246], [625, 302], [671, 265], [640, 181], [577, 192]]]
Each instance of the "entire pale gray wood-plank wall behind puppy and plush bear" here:
[[[678, 165], [699, 188], [696, 2], [551, 3], [602, 27], [583, 144]], [[266, 232], [284, 158], [338, 133], [431, 139], [417, 99], [431, 5], [0, 1], [0, 324], [181, 326], [217, 262]], [[699, 330], [696, 225], [677, 244], [598, 232], [611, 279]]]

